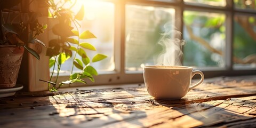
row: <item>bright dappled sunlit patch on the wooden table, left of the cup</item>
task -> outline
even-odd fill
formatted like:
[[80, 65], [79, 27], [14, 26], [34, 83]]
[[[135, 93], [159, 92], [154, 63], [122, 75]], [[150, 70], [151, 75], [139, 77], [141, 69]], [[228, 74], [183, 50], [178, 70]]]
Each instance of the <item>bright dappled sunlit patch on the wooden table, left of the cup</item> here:
[[[144, 111], [133, 111], [131, 102], [114, 103], [106, 100], [107, 97], [101, 90], [94, 90], [88, 94], [66, 94], [60, 99], [68, 101], [55, 105], [57, 111], [60, 111], [57, 120], [63, 126], [143, 127], [136, 118], [146, 116]], [[58, 102], [59, 99], [55, 100]]]

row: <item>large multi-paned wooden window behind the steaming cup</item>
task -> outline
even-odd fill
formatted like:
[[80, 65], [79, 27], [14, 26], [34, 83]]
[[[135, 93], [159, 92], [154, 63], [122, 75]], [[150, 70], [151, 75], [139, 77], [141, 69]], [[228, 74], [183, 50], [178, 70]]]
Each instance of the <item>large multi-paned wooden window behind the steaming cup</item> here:
[[[85, 4], [89, 1], [81, 2]], [[170, 51], [176, 52], [166, 56], [169, 58], [164, 61], [180, 61], [184, 66], [193, 66], [202, 70], [205, 77], [256, 74], [255, 1], [93, 2], [91, 5], [95, 6], [90, 7], [95, 12], [86, 16], [81, 29], [85, 27], [93, 31], [98, 37], [93, 41], [97, 44], [96, 47], [109, 57], [95, 65], [100, 70], [100, 75], [94, 77], [95, 83], [88, 82], [89, 85], [142, 83], [143, 66], [164, 64], [158, 58], [165, 57], [163, 53]], [[172, 33], [164, 35], [166, 31]], [[46, 38], [51, 38], [50, 32]], [[167, 45], [161, 44], [161, 39], [177, 43], [173, 47], [183, 47], [183, 58], [175, 58], [182, 55], [182, 52], [165, 49]], [[182, 39], [186, 42], [185, 45], [182, 44]], [[175, 59], [169, 60], [170, 58]], [[43, 59], [46, 60], [46, 57]], [[42, 74], [38, 75], [38, 71], [47, 70], [46, 64], [32, 63], [37, 63], [38, 70], [31, 71], [30, 74], [37, 74], [31, 81], [42, 79]], [[49, 71], [43, 76], [47, 75]], [[59, 80], [66, 81], [68, 77], [63, 75]], [[43, 84], [34, 82], [29, 85], [33, 86], [30, 90], [45, 90], [46, 85], [41, 87]]]

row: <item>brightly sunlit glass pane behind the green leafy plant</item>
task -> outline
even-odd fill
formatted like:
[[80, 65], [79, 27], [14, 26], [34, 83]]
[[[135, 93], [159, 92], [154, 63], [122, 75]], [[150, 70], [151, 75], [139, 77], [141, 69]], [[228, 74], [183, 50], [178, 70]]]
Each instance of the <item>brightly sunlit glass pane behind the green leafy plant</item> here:
[[[81, 34], [83, 31], [89, 30], [97, 37], [92, 39], [80, 39], [80, 43], [90, 43], [97, 49], [97, 51], [84, 49], [86, 55], [91, 60], [90, 66], [93, 66], [99, 73], [102, 71], [113, 71], [115, 69], [113, 56], [115, 5], [110, 2], [77, 0], [76, 5], [72, 7], [71, 10], [74, 11], [74, 13], [77, 13], [81, 9], [81, 5], [84, 5], [84, 17], [83, 20], [78, 21], [80, 25], [77, 26], [79, 27], [79, 33]], [[65, 4], [65, 6], [71, 6], [71, 4]], [[74, 26], [74, 30], [76, 30], [75, 28], [76, 27]], [[77, 47], [77, 45], [74, 46]], [[92, 58], [97, 53], [105, 54], [108, 57], [98, 62], [92, 62]], [[75, 52], [73, 51], [73, 57], [61, 65], [61, 75], [69, 75], [73, 64], [74, 54]], [[76, 58], [81, 59], [79, 55], [77, 55]], [[50, 69], [50, 71], [52, 70], [53, 68]], [[74, 72], [77, 71], [81, 70], [74, 67]]]

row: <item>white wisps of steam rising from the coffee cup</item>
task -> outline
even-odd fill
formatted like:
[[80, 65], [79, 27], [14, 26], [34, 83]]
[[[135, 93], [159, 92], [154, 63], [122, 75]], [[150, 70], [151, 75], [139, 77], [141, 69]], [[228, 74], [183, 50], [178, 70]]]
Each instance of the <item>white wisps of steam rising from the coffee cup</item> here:
[[177, 31], [172, 23], [166, 23], [158, 41], [163, 51], [154, 59], [155, 65], [182, 65], [182, 46], [185, 45], [185, 41], [179, 38], [181, 38], [181, 32]]

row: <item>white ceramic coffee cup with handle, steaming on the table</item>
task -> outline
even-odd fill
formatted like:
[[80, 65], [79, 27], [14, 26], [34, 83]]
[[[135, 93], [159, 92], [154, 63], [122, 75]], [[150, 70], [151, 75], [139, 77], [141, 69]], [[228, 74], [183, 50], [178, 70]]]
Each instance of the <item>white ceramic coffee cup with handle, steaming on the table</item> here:
[[[191, 79], [195, 74], [201, 75], [201, 79], [191, 85]], [[149, 95], [156, 99], [181, 99], [187, 92], [194, 89], [204, 81], [202, 71], [193, 71], [186, 66], [145, 66], [143, 78]]]

